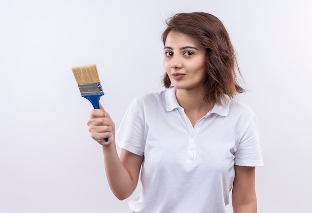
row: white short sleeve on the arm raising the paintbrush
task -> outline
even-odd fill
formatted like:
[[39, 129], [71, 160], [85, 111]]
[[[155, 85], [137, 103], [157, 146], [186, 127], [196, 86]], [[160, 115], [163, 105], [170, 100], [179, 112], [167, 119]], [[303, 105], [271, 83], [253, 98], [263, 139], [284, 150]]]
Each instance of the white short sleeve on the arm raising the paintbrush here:
[[116, 133], [116, 144], [137, 155], [144, 155], [146, 142], [143, 106], [138, 99], [130, 104]]

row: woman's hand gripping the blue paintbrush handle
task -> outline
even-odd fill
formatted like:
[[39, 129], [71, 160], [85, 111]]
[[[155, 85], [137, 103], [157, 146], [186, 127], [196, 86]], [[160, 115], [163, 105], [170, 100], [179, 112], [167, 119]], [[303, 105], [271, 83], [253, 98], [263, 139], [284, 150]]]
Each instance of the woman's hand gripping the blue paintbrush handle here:
[[[107, 146], [115, 142], [115, 124], [101, 104], [100, 108], [91, 111], [87, 124], [92, 139]], [[106, 138], [109, 138], [108, 142], [105, 141]]]

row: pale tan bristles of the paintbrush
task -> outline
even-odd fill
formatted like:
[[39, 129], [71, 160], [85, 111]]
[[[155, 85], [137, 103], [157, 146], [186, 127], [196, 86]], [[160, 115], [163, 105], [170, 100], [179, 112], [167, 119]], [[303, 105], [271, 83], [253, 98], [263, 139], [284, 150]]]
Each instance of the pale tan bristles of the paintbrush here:
[[100, 82], [96, 65], [85, 65], [71, 69], [78, 84]]

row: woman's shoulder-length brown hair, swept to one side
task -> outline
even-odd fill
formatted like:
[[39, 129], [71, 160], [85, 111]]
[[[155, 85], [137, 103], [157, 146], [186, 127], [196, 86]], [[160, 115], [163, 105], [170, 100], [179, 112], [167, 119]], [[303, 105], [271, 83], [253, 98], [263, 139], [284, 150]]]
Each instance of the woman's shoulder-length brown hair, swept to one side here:
[[[242, 78], [228, 32], [214, 15], [205, 12], [177, 13], [166, 21], [167, 28], [162, 33], [165, 45], [170, 31], [191, 36], [206, 50], [204, 100], [222, 105], [227, 97], [233, 99], [237, 93], [245, 92], [238, 83]], [[167, 73], [163, 75], [163, 86], [171, 87]]]

